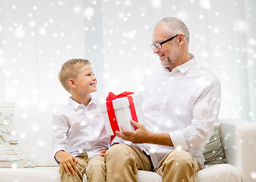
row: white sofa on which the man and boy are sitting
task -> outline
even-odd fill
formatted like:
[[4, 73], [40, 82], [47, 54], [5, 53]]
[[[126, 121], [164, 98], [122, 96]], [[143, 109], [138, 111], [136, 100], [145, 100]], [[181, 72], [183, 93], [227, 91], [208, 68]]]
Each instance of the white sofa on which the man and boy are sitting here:
[[[36, 168], [0, 168], [0, 182], [57, 182], [59, 167], [51, 148], [52, 115], [58, 105], [15, 105], [19, 143]], [[220, 133], [229, 164], [211, 165], [197, 172], [196, 182], [256, 181], [256, 123], [220, 120]], [[139, 182], [162, 181], [150, 171], [138, 171]], [[87, 181], [84, 177], [84, 181]]]

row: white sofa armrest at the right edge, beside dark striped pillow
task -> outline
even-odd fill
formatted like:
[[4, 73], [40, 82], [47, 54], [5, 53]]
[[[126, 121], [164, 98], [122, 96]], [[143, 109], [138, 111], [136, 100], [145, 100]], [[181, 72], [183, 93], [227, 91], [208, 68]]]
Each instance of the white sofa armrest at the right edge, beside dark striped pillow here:
[[256, 122], [220, 119], [220, 138], [227, 162], [235, 165], [242, 180], [256, 180]]

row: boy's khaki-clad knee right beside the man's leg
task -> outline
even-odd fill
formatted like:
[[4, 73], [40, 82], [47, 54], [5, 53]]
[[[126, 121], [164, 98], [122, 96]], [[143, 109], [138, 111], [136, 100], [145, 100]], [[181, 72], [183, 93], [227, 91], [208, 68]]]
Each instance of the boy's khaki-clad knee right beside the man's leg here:
[[92, 157], [88, 162], [85, 174], [88, 182], [106, 181], [106, 165], [104, 157], [99, 155]]

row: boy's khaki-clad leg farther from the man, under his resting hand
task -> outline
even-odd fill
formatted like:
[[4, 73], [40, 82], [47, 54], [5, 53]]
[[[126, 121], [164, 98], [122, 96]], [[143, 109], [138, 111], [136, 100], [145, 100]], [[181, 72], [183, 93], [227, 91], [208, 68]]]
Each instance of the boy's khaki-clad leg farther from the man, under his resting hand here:
[[83, 174], [85, 174], [85, 169], [88, 165], [88, 155], [82, 154], [78, 155], [76, 158], [78, 159], [78, 163], [76, 165], [78, 171], [74, 175], [68, 175], [62, 171], [62, 168], [59, 168], [59, 173], [61, 175], [60, 179], [62, 182], [82, 182]]

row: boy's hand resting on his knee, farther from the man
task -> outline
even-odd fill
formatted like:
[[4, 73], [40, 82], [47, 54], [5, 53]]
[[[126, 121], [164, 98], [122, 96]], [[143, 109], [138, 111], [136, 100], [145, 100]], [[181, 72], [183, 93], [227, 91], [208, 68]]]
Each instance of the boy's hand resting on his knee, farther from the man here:
[[71, 172], [71, 174], [74, 175], [75, 172], [78, 171], [75, 167], [75, 165], [78, 163], [78, 159], [68, 152], [56, 152], [56, 158], [59, 161], [59, 165], [62, 168], [62, 171], [66, 174], [70, 175]]

